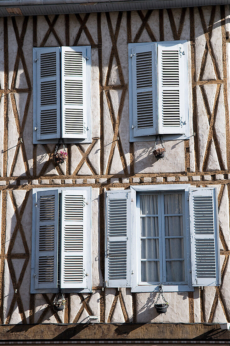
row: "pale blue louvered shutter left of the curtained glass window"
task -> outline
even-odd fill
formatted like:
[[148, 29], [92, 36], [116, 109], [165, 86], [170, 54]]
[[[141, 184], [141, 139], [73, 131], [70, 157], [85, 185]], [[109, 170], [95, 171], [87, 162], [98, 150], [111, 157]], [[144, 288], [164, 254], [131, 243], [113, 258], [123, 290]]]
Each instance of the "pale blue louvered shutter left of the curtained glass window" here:
[[131, 191], [106, 193], [105, 280], [109, 287], [131, 286]]

